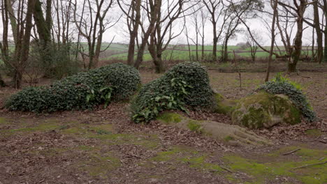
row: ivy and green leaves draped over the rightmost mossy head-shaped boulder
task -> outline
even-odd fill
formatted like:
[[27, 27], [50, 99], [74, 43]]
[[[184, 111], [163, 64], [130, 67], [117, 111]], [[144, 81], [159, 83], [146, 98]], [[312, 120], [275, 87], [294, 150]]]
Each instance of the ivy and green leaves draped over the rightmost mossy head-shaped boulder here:
[[315, 121], [317, 116], [313, 111], [310, 102], [303, 93], [300, 84], [296, 84], [291, 80], [283, 77], [280, 73], [270, 82], [266, 82], [259, 87], [259, 90], [267, 91], [273, 94], [284, 94], [291, 99], [291, 101], [300, 109], [301, 114], [307, 118], [308, 121]]

